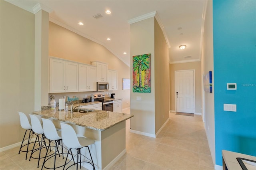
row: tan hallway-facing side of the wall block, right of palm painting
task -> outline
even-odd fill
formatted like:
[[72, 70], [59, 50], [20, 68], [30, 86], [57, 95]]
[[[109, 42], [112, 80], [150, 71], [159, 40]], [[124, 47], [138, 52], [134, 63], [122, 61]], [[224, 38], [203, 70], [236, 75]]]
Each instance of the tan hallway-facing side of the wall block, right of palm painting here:
[[156, 132], [169, 119], [169, 57], [162, 29], [155, 19], [155, 122]]

